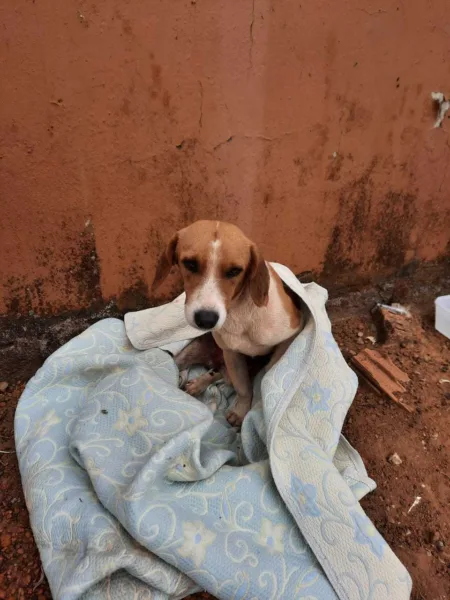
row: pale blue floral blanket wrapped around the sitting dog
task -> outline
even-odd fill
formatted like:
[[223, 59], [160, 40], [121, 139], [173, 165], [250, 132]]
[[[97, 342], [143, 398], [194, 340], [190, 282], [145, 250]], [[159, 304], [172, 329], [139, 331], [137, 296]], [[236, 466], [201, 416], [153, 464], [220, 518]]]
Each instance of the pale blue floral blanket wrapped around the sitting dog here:
[[55, 599], [410, 597], [407, 571], [358, 502], [374, 483], [341, 436], [357, 381], [326, 292], [277, 270], [309, 318], [255, 382], [241, 434], [224, 418], [231, 388], [188, 396], [171, 355], [136, 349], [117, 319], [28, 383], [16, 447]]

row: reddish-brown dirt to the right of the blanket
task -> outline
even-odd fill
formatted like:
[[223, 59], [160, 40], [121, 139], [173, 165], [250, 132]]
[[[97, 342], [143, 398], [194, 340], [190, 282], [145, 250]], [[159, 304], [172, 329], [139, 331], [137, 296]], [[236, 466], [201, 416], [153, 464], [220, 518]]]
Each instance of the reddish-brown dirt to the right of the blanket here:
[[[334, 332], [344, 354], [351, 356], [372, 346], [366, 336], [374, 336], [375, 328], [369, 319], [352, 317], [335, 322]], [[413, 318], [403, 339], [388, 340], [384, 351], [409, 375], [403, 397], [415, 413], [361, 382], [344, 434], [377, 482], [362, 504], [411, 573], [414, 600], [447, 600], [450, 384], [440, 380], [450, 379], [450, 342], [425, 316]], [[398, 466], [387, 460], [394, 452], [402, 459]], [[411, 508], [417, 497], [419, 504]]]

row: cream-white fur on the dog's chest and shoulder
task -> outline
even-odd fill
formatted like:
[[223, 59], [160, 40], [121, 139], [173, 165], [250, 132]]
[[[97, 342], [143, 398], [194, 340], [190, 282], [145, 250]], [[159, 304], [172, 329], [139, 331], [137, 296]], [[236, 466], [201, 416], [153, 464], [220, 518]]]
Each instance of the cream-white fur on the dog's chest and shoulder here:
[[267, 306], [257, 307], [246, 295], [230, 309], [225, 323], [213, 335], [222, 349], [247, 356], [261, 356], [271, 352], [300, 329], [301, 325], [292, 327], [291, 315], [283, 305], [271, 273]]

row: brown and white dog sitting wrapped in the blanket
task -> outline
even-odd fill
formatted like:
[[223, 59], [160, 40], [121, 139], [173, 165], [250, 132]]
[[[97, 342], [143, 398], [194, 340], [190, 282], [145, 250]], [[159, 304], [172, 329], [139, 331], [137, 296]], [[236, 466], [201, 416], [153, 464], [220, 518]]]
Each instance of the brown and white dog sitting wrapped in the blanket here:
[[[303, 328], [300, 301], [256, 245], [230, 223], [197, 221], [176, 233], [159, 260], [153, 290], [173, 265], [178, 265], [183, 276], [188, 323], [211, 332], [223, 351], [227, 376], [237, 393], [227, 419], [239, 427], [252, 403], [246, 356], [272, 353], [267, 368], [281, 358]], [[180, 368], [198, 353], [200, 343], [176, 357]], [[206, 364], [213, 370], [186, 386], [192, 395], [221, 377], [217, 375], [219, 357], [213, 356], [210, 365]]]

